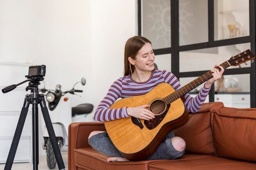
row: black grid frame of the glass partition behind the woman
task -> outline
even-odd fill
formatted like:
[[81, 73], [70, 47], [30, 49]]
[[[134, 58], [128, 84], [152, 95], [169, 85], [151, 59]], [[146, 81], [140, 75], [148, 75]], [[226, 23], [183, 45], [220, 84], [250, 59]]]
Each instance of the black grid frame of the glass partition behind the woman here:
[[[154, 49], [156, 55], [171, 54], [171, 72], [180, 79], [183, 77], [198, 77], [205, 71], [180, 72], [179, 54], [182, 51], [198, 50], [219, 46], [229, 46], [234, 44], [250, 43], [251, 51], [255, 54], [255, 20], [256, 20], [256, 2], [249, 0], [249, 36], [237, 37], [232, 39], [214, 40], [214, 0], [208, 0], [208, 42], [179, 46], [179, 0], [171, 1], [171, 47]], [[141, 0], [138, 0], [138, 35], [141, 35]], [[245, 49], [246, 50], [246, 49]], [[250, 74], [250, 105], [256, 107], [256, 67], [255, 62], [250, 68], [232, 68], [225, 70], [223, 75]], [[209, 102], [214, 102], [214, 85], [209, 92]]]

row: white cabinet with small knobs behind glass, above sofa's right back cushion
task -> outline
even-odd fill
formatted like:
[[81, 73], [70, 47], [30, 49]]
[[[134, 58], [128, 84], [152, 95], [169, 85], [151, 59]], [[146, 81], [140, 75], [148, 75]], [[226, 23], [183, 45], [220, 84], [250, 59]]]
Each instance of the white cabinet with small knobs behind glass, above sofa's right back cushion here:
[[216, 102], [223, 102], [225, 107], [250, 108], [250, 94], [215, 94]]

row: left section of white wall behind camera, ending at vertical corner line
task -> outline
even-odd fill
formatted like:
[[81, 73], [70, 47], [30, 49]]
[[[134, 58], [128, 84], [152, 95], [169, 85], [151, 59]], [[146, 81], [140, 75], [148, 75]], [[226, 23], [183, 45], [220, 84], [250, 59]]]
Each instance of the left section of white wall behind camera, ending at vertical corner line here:
[[[84, 0], [0, 1], [0, 61], [45, 64], [47, 88], [70, 89], [82, 76], [90, 85], [90, 10]], [[79, 100], [90, 102], [83, 90]]]

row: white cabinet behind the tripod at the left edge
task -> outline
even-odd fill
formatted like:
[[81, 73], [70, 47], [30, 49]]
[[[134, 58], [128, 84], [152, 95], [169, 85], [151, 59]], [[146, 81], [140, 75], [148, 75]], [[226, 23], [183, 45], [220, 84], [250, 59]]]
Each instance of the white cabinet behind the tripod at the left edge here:
[[[0, 90], [7, 85], [18, 84], [27, 78], [29, 66], [27, 63], [0, 62]], [[14, 132], [20, 117], [28, 83], [18, 86], [6, 94], [0, 93], [0, 163], [5, 163], [11, 147]], [[32, 108], [32, 106], [30, 105]], [[32, 149], [32, 118], [31, 108], [22, 130], [20, 142], [13, 162], [31, 162]]]

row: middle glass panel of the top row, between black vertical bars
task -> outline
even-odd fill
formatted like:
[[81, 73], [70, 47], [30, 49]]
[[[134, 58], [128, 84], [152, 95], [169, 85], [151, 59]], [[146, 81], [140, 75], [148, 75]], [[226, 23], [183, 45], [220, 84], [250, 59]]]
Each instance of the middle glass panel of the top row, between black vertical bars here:
[[208, 1], [179, 1], [180, 46], [208, 41]]

